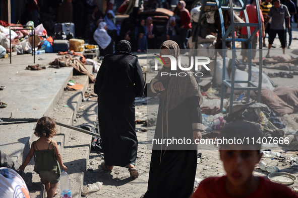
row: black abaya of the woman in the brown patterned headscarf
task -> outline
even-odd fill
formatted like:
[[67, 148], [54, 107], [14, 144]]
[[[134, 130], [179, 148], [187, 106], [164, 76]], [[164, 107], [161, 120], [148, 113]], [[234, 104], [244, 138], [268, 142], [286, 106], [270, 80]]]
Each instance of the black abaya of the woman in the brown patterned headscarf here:
[[[153, 94], [150, 84], [147, 84], [147, 94]], [[200, 98], [188, 97], [168, 112], [165, 110], [165, 101], [161, 97], [159, 100], [154, 138], [193, 139], [192, 123], [202, 123]], [[192, 194], [197, 168], [197, 149], [192, 143], [167, 147], [153, 145], [148, 190], [144, 198], [182, 198]]]

